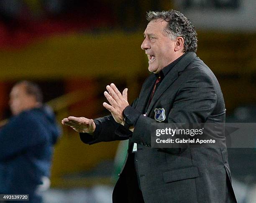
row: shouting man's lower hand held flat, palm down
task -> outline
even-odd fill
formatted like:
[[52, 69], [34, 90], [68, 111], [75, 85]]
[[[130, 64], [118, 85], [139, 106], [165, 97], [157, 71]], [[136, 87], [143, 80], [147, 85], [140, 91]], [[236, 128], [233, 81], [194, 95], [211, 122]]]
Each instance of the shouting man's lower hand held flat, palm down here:
[[84, 117], [73, 117], [64, 118], [61, 121], [62, 124], [72, 127], [77, 132], [93, 134], [95, 131], [95, 122], [93, 119], [87, 119]]

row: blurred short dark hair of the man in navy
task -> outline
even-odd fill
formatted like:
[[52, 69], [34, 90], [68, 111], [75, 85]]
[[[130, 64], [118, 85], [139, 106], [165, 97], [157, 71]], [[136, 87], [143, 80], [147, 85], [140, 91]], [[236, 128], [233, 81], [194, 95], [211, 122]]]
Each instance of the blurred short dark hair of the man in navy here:
[[36, 98], [37, 102], [39, 102], [41, 104], [43, 103], [43, 94], [42, 94], [40, 87], [37, 84], [35, 84], [31, 81], [23, 80], [23, 81], [16, 83], [15, 86], [20, 85], [20, 84], [25, 85], [27, 94], [34, 96]]

